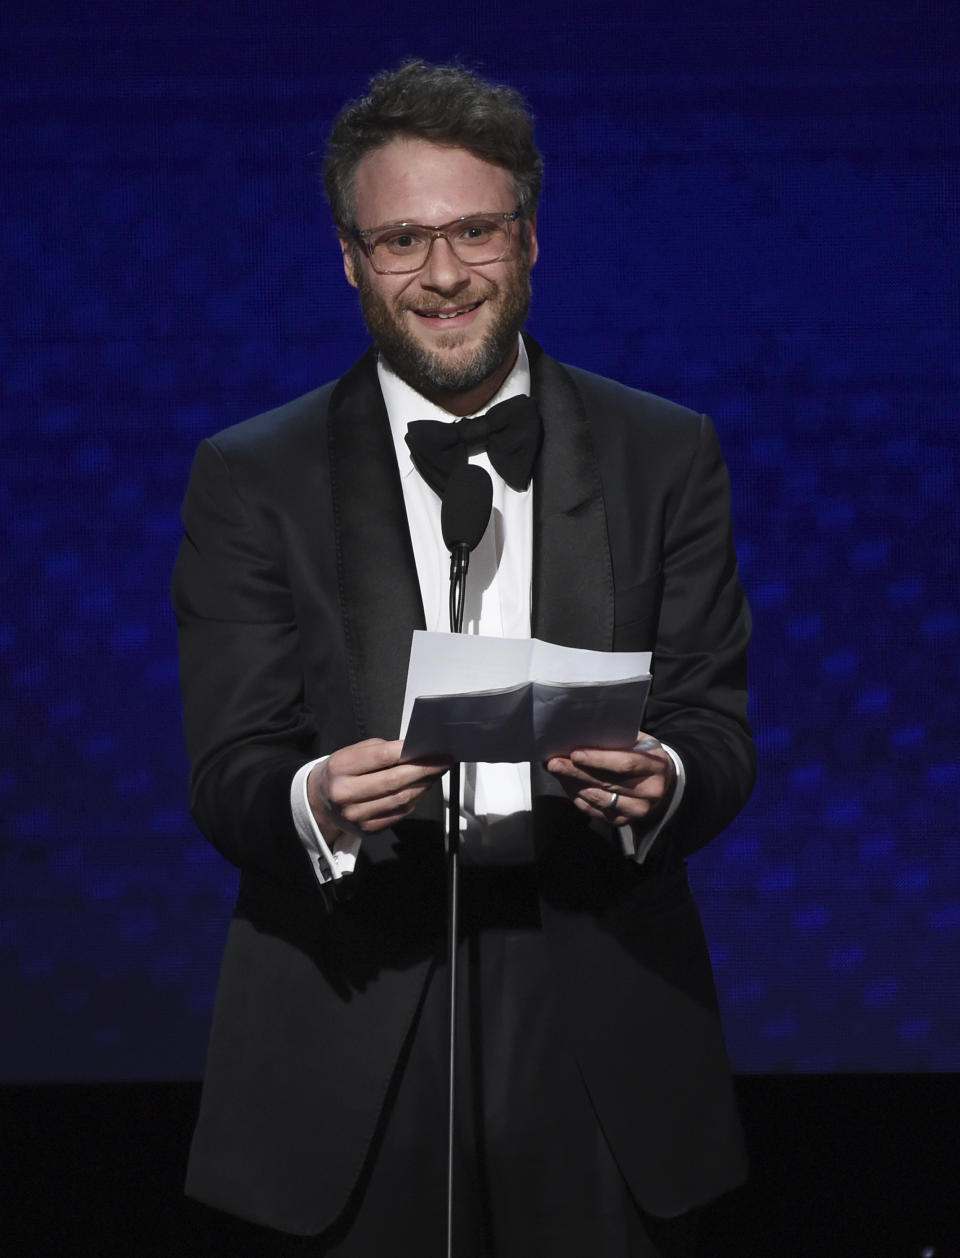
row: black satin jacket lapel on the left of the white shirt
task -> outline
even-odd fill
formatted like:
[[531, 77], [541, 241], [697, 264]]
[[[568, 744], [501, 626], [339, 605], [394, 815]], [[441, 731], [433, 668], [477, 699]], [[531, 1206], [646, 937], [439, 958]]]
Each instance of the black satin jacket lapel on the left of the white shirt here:
[[424, 628], [390, 423], [369, 351], [333, 391], [330, 478], [350, 689], [361, 738], [395, 738], [414, 629]]

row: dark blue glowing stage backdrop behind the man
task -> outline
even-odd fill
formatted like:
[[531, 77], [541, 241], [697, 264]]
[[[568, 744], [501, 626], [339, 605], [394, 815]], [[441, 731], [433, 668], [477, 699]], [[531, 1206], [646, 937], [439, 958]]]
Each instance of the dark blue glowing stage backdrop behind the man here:
[[201, 1069], [235, 879], [185, 809], [179, 502], [203, 435], [362, 350], [315, 157], [414, 54], [537, 116], [533, 333], [721, 434], [761, 776], [692, 874], [735, 1066], [960, 1068], [959, 28], [5, 6], [0, 1079]]

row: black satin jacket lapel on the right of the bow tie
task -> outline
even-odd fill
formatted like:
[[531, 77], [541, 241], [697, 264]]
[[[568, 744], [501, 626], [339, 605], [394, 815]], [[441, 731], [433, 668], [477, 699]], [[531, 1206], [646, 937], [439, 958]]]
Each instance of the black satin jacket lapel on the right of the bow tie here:
[[590, 421], [567, 372], [526, 343], [544, 419], [533, 472], [533, 637], [611, 650], [613, 562]]

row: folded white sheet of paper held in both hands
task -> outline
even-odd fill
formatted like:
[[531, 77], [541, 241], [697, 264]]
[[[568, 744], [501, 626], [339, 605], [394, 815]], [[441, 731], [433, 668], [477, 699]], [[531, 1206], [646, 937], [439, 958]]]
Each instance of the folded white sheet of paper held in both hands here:
[[403, 759], [497, 764], [549, 760], [574, 747], [632, 747], [649, 668], [649, 652], [418, 629], [400, 725]]

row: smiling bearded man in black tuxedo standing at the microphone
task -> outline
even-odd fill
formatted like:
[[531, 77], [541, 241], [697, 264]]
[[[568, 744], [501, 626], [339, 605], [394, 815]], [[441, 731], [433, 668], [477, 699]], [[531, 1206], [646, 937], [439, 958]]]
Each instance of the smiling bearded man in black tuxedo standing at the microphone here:
[[684, 874], [754, 774], [726, 472], [703, 416], [521, 337], [540, 174], [512, 91], [374, 79], [325, 181], [375, 348], [204, 443], [184, 506], [191, 803], [242, 871], [187, 1191], [337, 1258], [443, 1247], [447, 764], [395, 738], [410, 634], [447, 628], [414, 433], [502, 401], [532, 468], [472, 440], [493, 414], [453, 442], [494, 484], [469, 629], [653, 649], [653, 687], [635, 746], [467, 766], [455, 1252], [679, 1252], [663, 1220], [744, 1174]]

